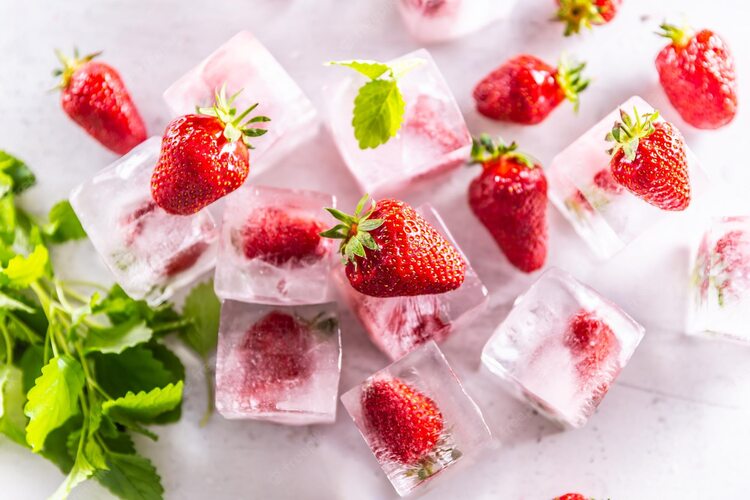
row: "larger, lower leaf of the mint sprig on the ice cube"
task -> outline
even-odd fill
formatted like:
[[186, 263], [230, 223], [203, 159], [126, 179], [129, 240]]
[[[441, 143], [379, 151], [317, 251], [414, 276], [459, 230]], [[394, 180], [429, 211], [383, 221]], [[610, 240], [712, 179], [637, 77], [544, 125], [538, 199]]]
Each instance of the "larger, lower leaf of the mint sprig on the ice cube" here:
[[404, 118], [406, 103], [394, 80], [372, 80], [354, 99], [354, 137], [360, 149], [376, 148], [395, 136]]

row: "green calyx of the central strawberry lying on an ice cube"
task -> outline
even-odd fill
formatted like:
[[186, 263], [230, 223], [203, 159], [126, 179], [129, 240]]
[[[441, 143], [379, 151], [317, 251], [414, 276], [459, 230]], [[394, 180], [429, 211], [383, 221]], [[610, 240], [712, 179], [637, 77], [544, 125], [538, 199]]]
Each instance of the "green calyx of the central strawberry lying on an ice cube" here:
[[[366, 212], [365, 206], [370, 201], [369, 208]], [[324, 238], [333, 238], [343, 240], [339, 246], [339, 252], [343, 256], [343, 262], [351, 262], [355, 269], [357, 267], [357, 257], [366, 258], [365, 248], [373, 251], [380, 250], [380, 246], [375, 242], [370, 231], [377, 229], [385, 222], [383, 219], [370, 219], [375, 211], [375, 200], [370, 199], [370, 195], [365, 194], [357, 203], [354, 215], [345, 214], [335, 208], [326, 208], [333, 217], [340, 221], [328, 231], [320, 233]]]

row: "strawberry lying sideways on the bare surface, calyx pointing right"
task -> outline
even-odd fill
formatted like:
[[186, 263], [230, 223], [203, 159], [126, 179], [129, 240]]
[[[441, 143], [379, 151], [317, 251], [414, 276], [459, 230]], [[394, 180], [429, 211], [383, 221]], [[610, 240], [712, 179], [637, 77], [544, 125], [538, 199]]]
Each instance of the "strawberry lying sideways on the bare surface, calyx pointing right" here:
[[474, 88], [477, 111], [494, 120], [533, 125], [564, 99], [578, 110], [578, 94], [589, 84], [581, 75], [585, 66], [570, 66], [563, 59], [555, 69], [534, 56], [516, 56]]

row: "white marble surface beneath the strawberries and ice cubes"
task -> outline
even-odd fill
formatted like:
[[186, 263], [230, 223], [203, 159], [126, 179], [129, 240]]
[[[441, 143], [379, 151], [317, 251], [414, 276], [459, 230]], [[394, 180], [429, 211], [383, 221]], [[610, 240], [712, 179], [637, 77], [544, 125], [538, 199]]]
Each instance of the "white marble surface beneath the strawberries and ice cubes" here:
[[[545, 164], [555, 152], [616, 104], [640, 94], [670, 120], [713, 171], [723, 172], [747, 196], [750, 169], [742, 130], [750, 126], [750, 7], [742, 0], [625, 0], [616, 21], [594, 33], [563, 39], [548, 21], [553, 0], [522, 0], [510, 22], [432, 53], [458, 96], [473, 133], [516, 139]], [[687, 128], [668, 106], [653, 59], [663, 45], [653, 35], [664, 18], [686, 19], [719, 31], [735, 51], [741, 78], [740, 115], [719, 132]], [[241, 29], [252, 30], [316, 104], [321, 87], [341, 71], [322, 62], [353, 57], [388, 59], [417, 48], [390, 0], [34, 0], [0, 2], [0, 147], [24, 158], [40, 182], [24, 197], [46, 211], [114, 156], [73, 126], [49, 93], [52, 50], [104, 50], [103, 59], [124, 75], [152, 133], [169, 114], [161, 93], [194, 63]], [[473, 110], [471, 89], [509, 56], [529, 52], [550, 61], [566, 50], [589, 61], [595, 77], [578, 116], [562, 106], [531, 128], [498, 125]], [[532, 277], [514, 272], [470, 215], [463, 169], [411, 192], [443, 211], [456, 239], [492, 293], [491, 308], [446, 348], [494, 433], [503, 442], [463, 475], [437, 485], [429, 498], [549, 499], [568, 490], [596, 498], [747, 498], [750, 476], [750, 348], [682, 335], [687, 244], [696, 227], [677, 216], [637, 240], [608, 263], [596, 263], [562, 217], [550, 208], [549, 264], [587, 281], [646, 326], [640, 349], [588, 426], [556, 432], [500, 392], [478, 369], [479, 350], [509, 302]], [[259, 183], [328, 190], [353, 204], [358, 197], [332, 141], [322, 133], [305, 151], [288, 157]], [[108, 280], [88, 244], [59, 251], [58, 267]], [[346, 390], [387, 361], [344, 315]], [[391, 498], [394, 491], [339, 405], [335, 425], [288, 428], [229, 422], [215, 417], [198, 427], [205, 394], [198, 364], [188, 366], [186, 411], [176, 425], [157, 429], [158, 443], [138, 440], [153, 458], [168, 498]], [[62, 480], [58, 470], [30, 452], [0, 440], [0, 497], [43, 498]], [[89, 483], [74, 498], [107, 498]]]

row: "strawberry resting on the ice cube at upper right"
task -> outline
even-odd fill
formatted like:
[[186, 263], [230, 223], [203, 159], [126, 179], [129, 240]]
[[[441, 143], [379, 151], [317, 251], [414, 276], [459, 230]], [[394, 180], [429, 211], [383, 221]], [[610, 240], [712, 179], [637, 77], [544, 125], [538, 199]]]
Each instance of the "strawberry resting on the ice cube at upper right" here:
[[690, 204], [685, 142], [658, 112], [631, 118], [620, 110], [621, 122], [607, 134], [612, 176], [628, 191], [662, 210], [685, 210]]

